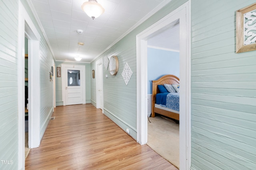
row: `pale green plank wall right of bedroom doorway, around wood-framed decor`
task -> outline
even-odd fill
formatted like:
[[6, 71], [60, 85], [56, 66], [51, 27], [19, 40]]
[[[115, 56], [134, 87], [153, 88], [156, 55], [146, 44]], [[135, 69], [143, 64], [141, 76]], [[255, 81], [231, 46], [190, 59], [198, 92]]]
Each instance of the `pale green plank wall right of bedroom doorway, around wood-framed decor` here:
[[192, 170], [256, 167], [256, 51], [236, 54], [236, 10], [192, 0]]

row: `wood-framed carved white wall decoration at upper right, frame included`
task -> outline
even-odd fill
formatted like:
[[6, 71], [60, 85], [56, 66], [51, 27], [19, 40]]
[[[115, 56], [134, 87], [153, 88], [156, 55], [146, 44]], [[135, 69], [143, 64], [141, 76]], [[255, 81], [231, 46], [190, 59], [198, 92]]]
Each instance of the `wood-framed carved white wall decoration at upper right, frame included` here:
[[236, 53], [256, 50], [256, 3], [236, 11]]

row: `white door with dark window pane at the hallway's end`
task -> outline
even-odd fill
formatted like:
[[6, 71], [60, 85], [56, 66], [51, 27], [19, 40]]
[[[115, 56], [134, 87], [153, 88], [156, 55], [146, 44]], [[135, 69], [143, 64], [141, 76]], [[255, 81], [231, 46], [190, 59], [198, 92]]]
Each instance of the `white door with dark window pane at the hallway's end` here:
[[85, 77], [81, 66], [62, 64], [63, 105], [85, 104]]

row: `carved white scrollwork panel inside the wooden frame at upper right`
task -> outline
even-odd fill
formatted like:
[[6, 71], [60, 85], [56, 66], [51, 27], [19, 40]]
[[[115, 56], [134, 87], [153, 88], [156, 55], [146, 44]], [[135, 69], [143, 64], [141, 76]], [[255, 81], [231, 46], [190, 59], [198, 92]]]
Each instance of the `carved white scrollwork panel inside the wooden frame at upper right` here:
[[256, 41], [256, 10], [244, 14], [244, 45]]

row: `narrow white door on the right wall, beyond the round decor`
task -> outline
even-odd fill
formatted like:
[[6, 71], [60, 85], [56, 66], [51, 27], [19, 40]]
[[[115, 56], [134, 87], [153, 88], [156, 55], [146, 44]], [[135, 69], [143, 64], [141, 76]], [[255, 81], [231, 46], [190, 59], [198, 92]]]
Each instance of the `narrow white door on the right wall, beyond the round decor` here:
[[103, 113], [103, 60], [96, 61], [96, 108]]

